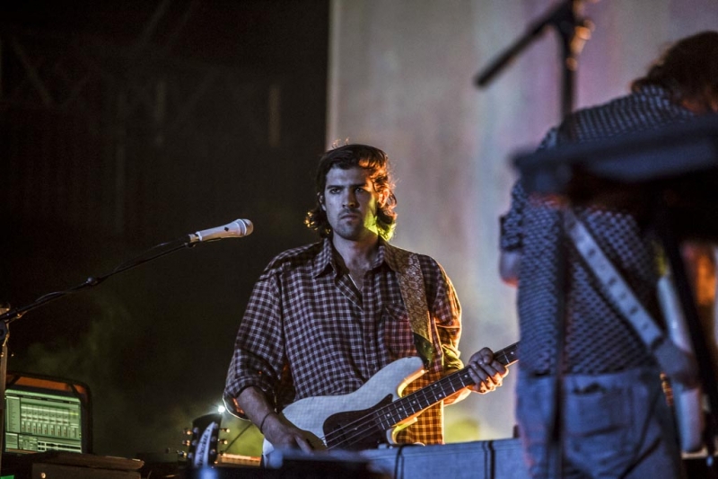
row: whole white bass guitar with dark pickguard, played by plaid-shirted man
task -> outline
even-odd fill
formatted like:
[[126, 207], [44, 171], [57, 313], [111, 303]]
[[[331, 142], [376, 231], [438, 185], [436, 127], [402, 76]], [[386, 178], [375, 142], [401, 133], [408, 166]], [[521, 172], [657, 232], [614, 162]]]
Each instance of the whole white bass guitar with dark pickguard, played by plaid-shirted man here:
[[[510, 366], [518, 359], [516, 342], [494, 353], [495, 359]], [[396, 432], [406, 427], [426, 408], [473, 386], [468, 368], [442, 377], [410, 395], [401, 397], [406, 386], [425, 373], [418, 357], [398, 359], [381, 368], [369, 381], [348, 395], [307, 397], [289, 404], [282, 412], [309, 433], [315, 449], [360, 450], [396, 443]], [[274, 447], [265, 439], [265, 457]]]

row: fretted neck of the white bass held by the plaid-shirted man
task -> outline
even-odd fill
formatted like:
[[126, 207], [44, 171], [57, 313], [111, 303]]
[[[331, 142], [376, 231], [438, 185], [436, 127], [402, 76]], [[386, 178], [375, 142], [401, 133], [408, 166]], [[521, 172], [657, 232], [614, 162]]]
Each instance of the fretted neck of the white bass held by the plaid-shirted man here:
[[[503, 366], [511, 366], [518, 358], [516, 350], [519, 343], [515, 342], [503, 350], [495, 351], [494, 358]], [[460, 369], [448, 376], [442, 377], [435, 383], [423, 387], [414, 393], [402, 397], [382, 407], [377, 411], [378, 420], [383, 430], [389, 430], [398, 422], [404, 421], [417, 412], [437, 404], [450, 395], [460, 391], [467, 386], [473, 386], [476, 382], [468, 374], [468, 368]]]

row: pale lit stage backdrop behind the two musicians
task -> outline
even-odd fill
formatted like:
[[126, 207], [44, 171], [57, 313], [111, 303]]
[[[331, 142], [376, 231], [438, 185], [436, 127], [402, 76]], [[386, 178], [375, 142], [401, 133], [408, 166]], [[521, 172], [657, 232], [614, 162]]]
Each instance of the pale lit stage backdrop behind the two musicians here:
[[[519, 339], [515, 293], [497, 275], [498, 217], [516, 173], [560, 117], [556, 33], [532, 43], [486, 89], [473, 78], [555, 2], [333, 0], [327, 145], [385, 149], [398, 178], [394, 244], [442, 264], [463, 306], [465, 359]], [[662, 49], [718, 25], [715, 0], [585, 2], [577, 108], [626, 93]], [[451, 442], [505, 438], [516, 373], [491, 395], [447, 408]]]

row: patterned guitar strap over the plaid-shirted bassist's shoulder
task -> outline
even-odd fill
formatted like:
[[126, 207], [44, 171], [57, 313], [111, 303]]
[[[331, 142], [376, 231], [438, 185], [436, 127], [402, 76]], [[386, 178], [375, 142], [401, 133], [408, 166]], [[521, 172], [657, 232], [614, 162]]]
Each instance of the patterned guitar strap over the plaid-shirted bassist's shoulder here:
[[415, 253], [395, 249], [398, 259], [398, 284], [401, 298], [407, 306], [409, 323], [414, 332], [414, 344], [419, 356], [424, 360], [425, 368], [433, 363], [432, 331], [429, 326], [429, 306], [426, 304], [424, 274], [421, 272], [419, 258]]

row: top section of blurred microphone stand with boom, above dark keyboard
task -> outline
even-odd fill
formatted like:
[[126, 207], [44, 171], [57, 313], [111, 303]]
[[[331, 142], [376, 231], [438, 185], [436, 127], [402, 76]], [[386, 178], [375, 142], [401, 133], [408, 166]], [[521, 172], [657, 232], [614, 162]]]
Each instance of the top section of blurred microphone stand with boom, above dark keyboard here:
[[474, 83], [477, 87], [486, 87], [496, 75], [519, 56], [531, 42], [537, 40], [549, 27], [554, 28], [561, 40], [561, 113], [563, 117], [574, 111], [575, 72], [578, 67], [578, 56], [583, 44], [591, 38], [591, 22], [580, 16], [582, 0], [564, 0], [556, 4], [550, 12], [538, 21], [530, 24], [529, 29], [503, 54], [477, 73]]

